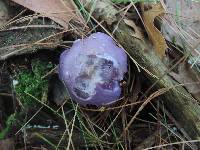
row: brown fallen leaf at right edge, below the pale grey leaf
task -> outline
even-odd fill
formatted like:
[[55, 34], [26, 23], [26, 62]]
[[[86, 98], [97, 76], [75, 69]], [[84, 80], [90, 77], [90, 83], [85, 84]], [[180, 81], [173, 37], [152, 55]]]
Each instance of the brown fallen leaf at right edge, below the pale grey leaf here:
[[171, 72], [170, 75], [184, 87], [195, 99], [200, 102], [200, 76], [191, 69], [187, 63], [181, 63], [178, 66], [178, 73]]

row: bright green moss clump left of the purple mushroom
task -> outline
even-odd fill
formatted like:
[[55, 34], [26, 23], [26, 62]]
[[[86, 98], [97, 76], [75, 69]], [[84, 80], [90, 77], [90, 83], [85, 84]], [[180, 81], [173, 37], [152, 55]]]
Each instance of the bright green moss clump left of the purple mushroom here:
[[32, 70], [22, 70], [16, 78], [18, 84], [15, 91], [24, 108], [38, 104], [37, 100], [43, 100], [48, 91], [48, 80], [42, 77], [54, 67], [52, 63], [38, 59], [33, 60], [31, 66]]

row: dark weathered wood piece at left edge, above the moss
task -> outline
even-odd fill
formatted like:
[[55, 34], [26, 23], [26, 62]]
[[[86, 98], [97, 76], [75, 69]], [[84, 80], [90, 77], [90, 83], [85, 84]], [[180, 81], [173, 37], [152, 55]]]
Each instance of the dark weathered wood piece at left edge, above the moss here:
[[0, 31], [0, 60], [38, 49], [53, 49], [62, 42], [59, 32], [60, 29], [39, 25]]

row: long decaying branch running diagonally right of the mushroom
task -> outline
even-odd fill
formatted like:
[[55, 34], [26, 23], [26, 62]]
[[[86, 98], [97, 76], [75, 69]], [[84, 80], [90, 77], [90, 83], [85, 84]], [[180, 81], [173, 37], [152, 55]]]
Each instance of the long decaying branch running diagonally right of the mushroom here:
[[[175, 119], [180, 122], [191, 139], [200, 139], [200, 106], [198, 102], [182, 86], [177, 86], [179, 83], [166, 73], [167, 67], [155, 54], [148, 40], [141, 40], [132, 36], [135, 34], [134, 30], [128, 27], [123, 20], [119, 24], [115, 22], [117, 15], [111, 12], [117, 11], [109, 0], [96, 1], [95, 4], [91, 0], [84, 2], [88, 10], [94, 10], [95, 18], [105, 21], [108, 16], [113, 18], [113, 27], [115, 28], [118, 25], [114, 33], [117, 41], [133, 59], [157, 77], [148, 75], [152, 83], [156, 82], [156, 88], [170, 89], [162, 97], [164, 104]], [[104, 7], [102, 7], [102, 4]], [[139, 27], [135, 30], [139, 31]]]

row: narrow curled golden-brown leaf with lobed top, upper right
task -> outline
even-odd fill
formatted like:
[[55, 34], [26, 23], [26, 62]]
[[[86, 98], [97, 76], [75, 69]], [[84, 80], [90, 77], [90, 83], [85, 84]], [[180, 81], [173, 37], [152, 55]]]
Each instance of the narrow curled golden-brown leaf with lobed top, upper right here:
[[165, 13], [164, 8], [160, 3], [151, 4], [151, 9], [145, 11], [144, 4], [142, 5], [143, 20], [146, 27], [149, 38], [151, 39], [156, 53], [163, 58], [165, 56], [165, 50], [167, 49], [167, 44], [161, 32], [154, 26], [154, 19]]

